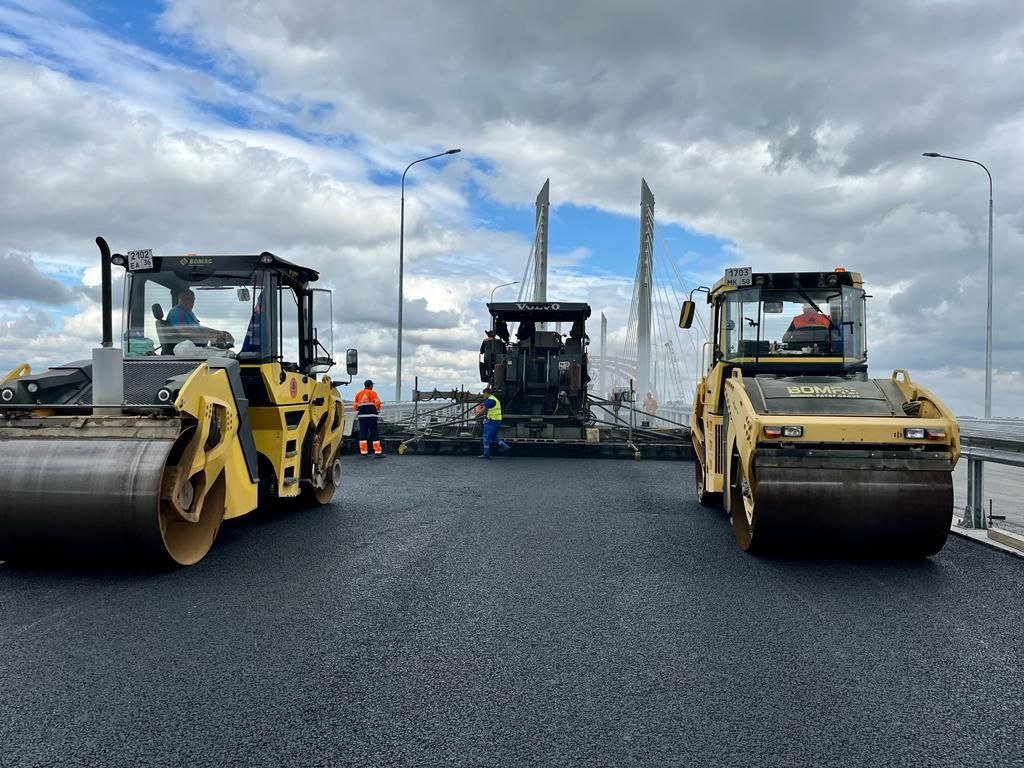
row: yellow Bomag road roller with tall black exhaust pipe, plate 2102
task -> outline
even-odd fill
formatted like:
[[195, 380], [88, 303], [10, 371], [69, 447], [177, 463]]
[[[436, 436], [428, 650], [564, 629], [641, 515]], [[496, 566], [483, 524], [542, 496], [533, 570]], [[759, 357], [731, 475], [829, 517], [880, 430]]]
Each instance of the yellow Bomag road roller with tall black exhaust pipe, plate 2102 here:
[[[264, 501], [327, 504], [344, 407], [325, 373], [317, 273], [271, 253], [112, 256], [96, 243], [102, 346], [0, 380], [0, 560], [188, 565], [222, 520]], [[112, 264], [126, 268], [120, 347]], [[346, 364], [350, 381], [354, 349]]]

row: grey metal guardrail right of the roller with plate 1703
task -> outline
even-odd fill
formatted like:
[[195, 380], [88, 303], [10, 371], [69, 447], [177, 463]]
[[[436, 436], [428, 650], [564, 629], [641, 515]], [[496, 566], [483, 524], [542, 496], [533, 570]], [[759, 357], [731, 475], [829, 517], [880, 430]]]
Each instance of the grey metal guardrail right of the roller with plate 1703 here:
[[[986, 462], [1024, 467], [1024, 420], [959, 419], [961, 453], [967, 459], [967, 506], [961, 525], [987, 528], [984, 467]], [[1000, 518], [1001, 519], [1001, 518]]]

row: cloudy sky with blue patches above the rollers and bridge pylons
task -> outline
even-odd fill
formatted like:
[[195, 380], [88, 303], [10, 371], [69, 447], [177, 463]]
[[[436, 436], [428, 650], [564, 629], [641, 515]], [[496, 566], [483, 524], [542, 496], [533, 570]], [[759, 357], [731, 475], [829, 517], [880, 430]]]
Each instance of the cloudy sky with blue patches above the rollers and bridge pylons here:
[[935, 151], [992, 171], [993, 413], [1024, 416], [1020, 0], [0, 0], [0, 78], [4, 370], [98, 341], [103, 234], [321, 269], [389, 397], [401, 172], [459, 146], [407, 177], [407, 396], [479, 386], [547, 178], [549, 298], [621, 350], [646, 178], [666, 273], [858, 270], [873, 374], [980, 415], [988, 182]]

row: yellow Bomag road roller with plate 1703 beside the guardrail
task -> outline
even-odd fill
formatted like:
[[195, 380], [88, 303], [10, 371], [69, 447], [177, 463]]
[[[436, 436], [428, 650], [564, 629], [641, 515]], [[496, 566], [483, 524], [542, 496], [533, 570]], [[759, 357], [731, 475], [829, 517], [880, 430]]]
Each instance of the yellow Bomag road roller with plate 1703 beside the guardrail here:
[[[938, 552], [958, 426], [906, 371], [868, 378], [860, 275], [737, 267], [695, 290], [711, 305], [691, 415], [696, 496], [723, 502], [739, 546]], [[683, 303], [682, 328], [694, 309]]]

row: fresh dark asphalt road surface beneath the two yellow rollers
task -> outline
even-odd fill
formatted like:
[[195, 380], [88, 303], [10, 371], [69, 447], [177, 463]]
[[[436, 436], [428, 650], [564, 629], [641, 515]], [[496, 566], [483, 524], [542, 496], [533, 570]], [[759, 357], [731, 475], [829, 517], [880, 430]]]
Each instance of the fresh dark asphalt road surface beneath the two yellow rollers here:
[[761, 559], [688, 462], [346, 457], [161, 573], [0, 565], [0, 765], [1024, 765], [1024, 559]]

